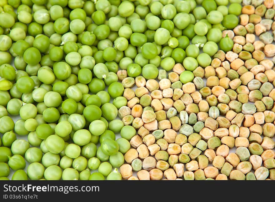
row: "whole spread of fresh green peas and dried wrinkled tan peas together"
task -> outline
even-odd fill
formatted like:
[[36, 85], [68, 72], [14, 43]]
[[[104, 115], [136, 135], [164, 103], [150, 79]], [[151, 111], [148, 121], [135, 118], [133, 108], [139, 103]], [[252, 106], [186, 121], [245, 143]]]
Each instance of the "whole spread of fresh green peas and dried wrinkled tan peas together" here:
[[0, 179], [274, 180], [274, 15], [0, 0]]

